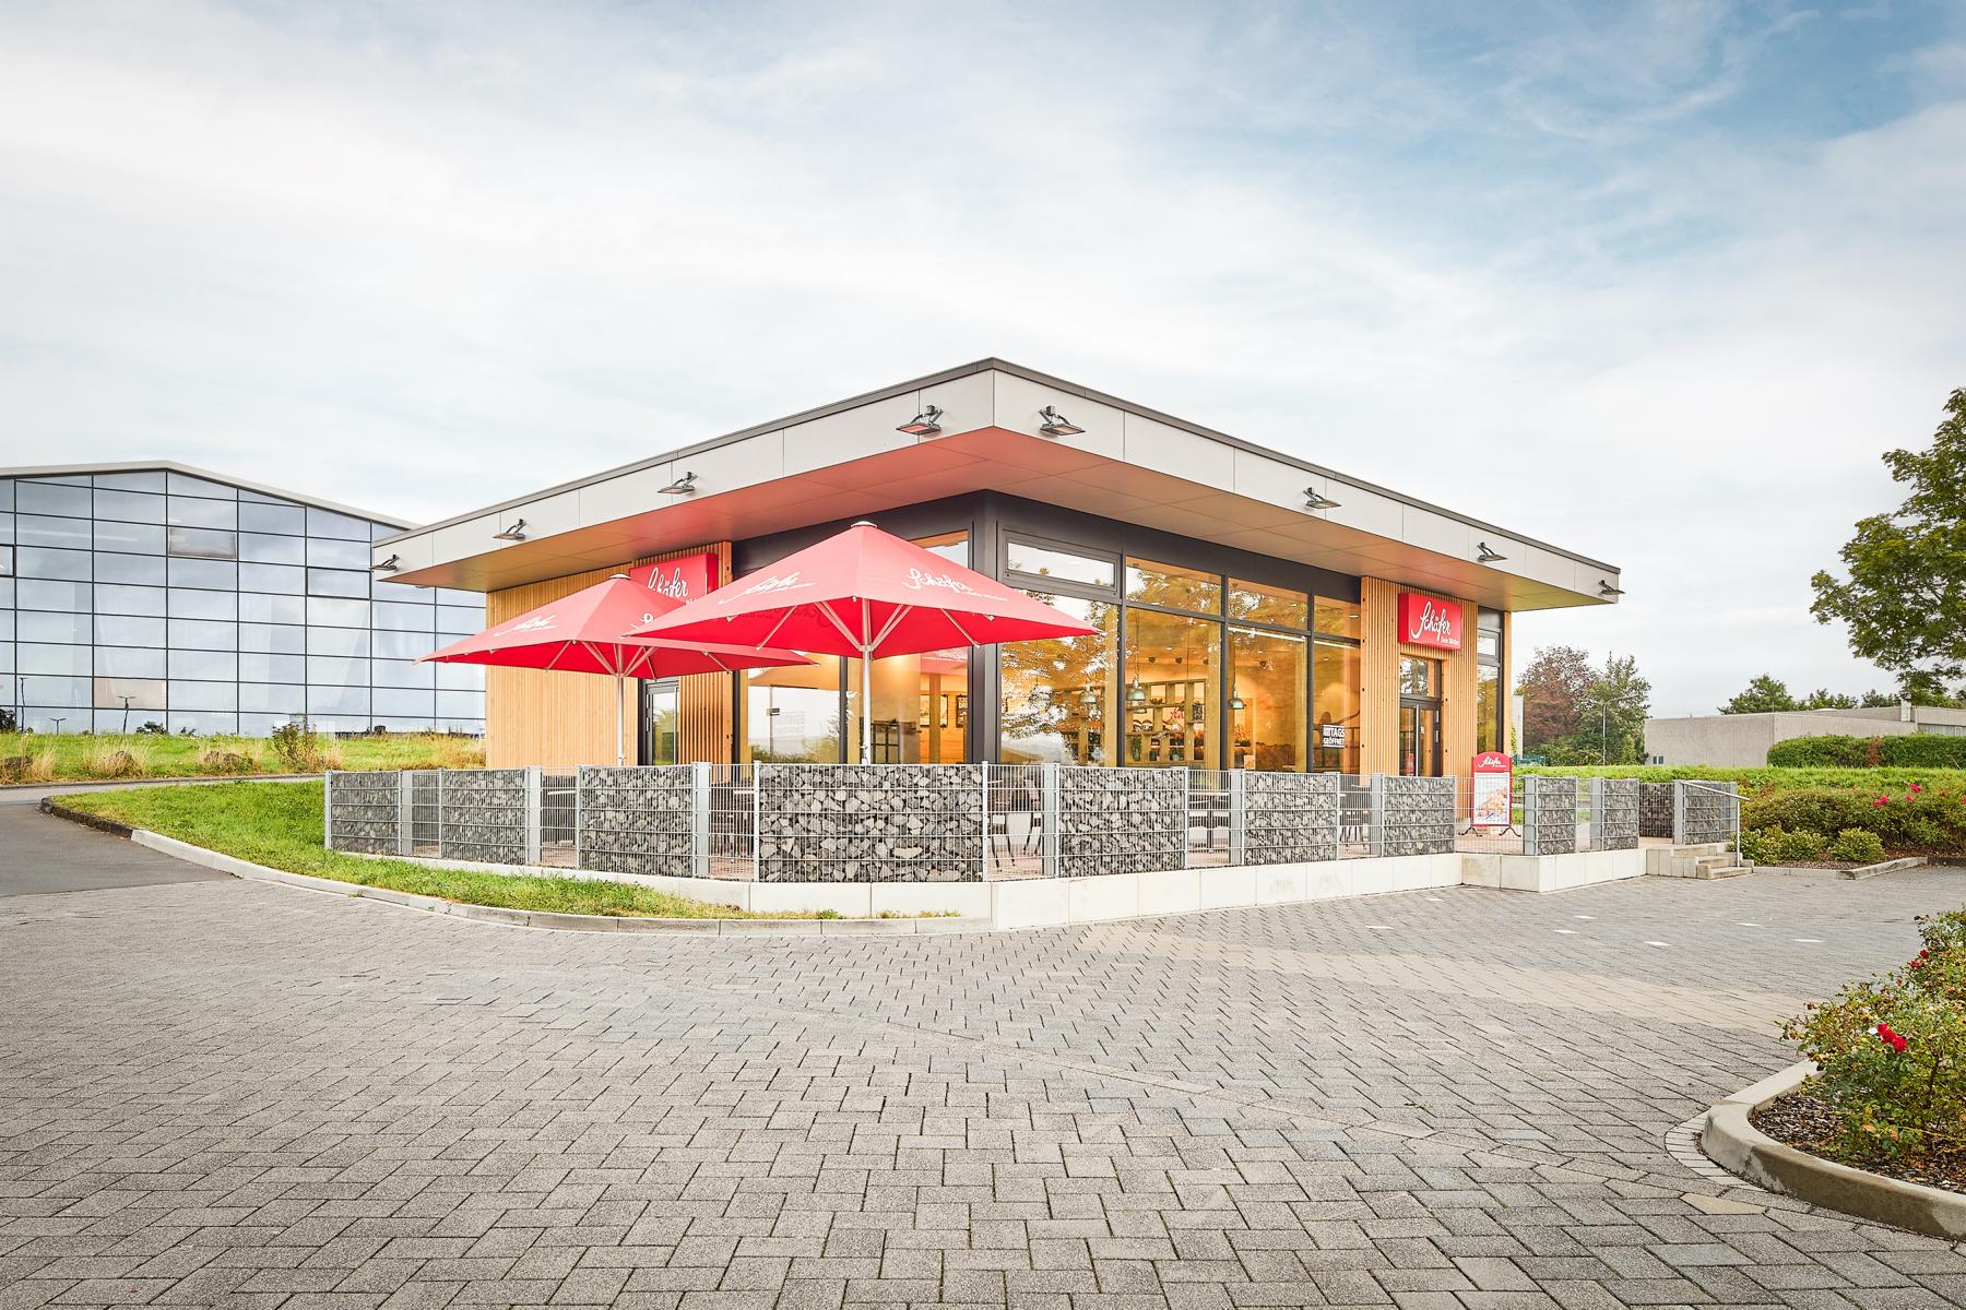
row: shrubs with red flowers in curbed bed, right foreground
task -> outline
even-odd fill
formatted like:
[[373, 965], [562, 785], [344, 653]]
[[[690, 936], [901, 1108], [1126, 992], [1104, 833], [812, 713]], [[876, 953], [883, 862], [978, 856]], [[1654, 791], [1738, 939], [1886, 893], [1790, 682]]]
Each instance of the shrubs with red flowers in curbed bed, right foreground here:
[[1789, 1021], [1817, 1074], [1754, 1123], [1822, 1159], [1966, 1190], [1966, 911], [1925, 917], [1919, 935], [1905, 964]]

